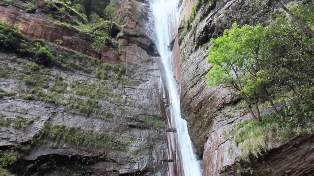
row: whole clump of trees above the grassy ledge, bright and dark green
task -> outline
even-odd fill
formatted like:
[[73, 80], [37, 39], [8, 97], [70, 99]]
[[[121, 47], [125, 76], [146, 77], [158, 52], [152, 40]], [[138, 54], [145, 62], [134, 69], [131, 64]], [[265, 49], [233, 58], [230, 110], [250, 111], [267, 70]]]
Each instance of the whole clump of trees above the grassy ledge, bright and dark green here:
[[[313, 3], [301, 1], [288, 8], [313, 28]], [[213, 66], [207, 73], [208, 85], [236, 90], [257, 120], [261, 120], [258, 108], [261, 101], [269, 101], [284, 120], [286, 115], [279, 115], [273, 99], [285, 96], [286, 92], [292, 92], [290, 105], [312, 99], [313, 60], [314, 39], [290, 14], [276, 10], [266, 27], [233, 24], [211, 41], [208, 62]]]

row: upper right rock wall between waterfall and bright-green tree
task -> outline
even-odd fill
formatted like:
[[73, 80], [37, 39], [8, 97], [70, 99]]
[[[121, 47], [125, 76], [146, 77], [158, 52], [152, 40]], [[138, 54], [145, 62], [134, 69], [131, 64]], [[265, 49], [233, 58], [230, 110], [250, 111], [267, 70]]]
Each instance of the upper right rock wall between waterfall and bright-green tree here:
[[[271, 7], [265, 1], [210, 1], [212, 6], [205, 8], [201, 4], [195, 19], [190, 22], [190, 30], [186, 30], [183, 22], [180, 30], [181, 60], [181, 109], [189, 122], [190, 135], [196, 146], [202, 148], [206, 142], [208, 126], [212, 123], [215, 111], [231, 103], [231, 92], [206, 85], [206, 73], [211, 68], [207, 62], [209, 40], [222, 34], [233, 22], [238, 24], [263, 23]], [[251, 15], [256, 4], [258, 11]], [[190, 5], [186, 5], [187, 8]], [[183, 14], [183, 16], [186, 16]], [[183, 17], [181, 19], [187, 19]]]

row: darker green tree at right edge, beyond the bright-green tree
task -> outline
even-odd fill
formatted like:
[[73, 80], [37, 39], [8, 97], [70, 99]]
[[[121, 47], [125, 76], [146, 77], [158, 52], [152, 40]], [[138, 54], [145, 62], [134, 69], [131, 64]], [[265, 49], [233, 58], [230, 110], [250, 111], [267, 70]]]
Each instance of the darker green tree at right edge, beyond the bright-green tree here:
[[[304, 23], [313, 28], [313, 2], [300, 1], [290, 7]], [[314, 73], [314, 39], [284, 12], [276, 12], [267, 26], [269, 37], [272, 38], [272, 48], [268, 54], [268, 76], [272, 77], [273, 88], [291, 91], [293, 98], [303, 99], [306, 92], [311, 91]], [[282, 96], [282, 95], [274, 95]]]

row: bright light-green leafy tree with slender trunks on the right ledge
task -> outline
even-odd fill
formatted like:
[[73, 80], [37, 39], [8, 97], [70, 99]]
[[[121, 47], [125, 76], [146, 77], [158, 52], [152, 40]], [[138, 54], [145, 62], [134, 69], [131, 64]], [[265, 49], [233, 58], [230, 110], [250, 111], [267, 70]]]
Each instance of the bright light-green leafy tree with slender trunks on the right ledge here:
[[[233, 24], [223, 36], [211, 41], [208, 62], [213, 67], [208, 71], [208, 84], [229, 87], [236, 90], [246, 101], [246, 107], [256, 120], [261, 120], [257, 106], [258, 92], [256, 77], [263, 65], [259, 53], [265, 43], [262, 25], [244, 25], [239, 28]], [[252, 111], [255, 104], [257, 116]]]

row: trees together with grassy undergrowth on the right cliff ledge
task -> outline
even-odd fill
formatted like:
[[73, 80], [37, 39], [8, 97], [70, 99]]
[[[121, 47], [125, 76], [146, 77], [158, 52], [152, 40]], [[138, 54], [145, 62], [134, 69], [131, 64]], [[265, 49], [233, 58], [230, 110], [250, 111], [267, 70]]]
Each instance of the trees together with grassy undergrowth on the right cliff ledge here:
[[[314, 39], [309, 32], [314, 5], [300, 1], [288, 8], [293, 15], [276, 10], [265, 27], [234, 24], [211, 40], [208, 84], [234, 89], [255, 118], [232, 132], [244, 161], [291, 135], [314, 132]], [[261, 115], [259, 106], [265, 104], [274, 114]]]

